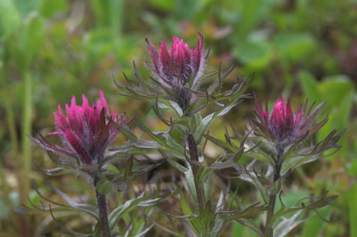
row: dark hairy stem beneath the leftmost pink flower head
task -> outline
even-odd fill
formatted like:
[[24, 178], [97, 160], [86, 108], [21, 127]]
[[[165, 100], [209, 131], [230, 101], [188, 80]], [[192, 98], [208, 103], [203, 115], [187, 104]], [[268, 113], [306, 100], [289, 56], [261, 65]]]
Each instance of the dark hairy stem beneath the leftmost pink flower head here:
[[101, 236], [102, 237], [110, 237], [110, 228], [109, 228], [109, 221], [108, 221], [108, 209], [106, 206], [106, 196], [105, 194], [100, 193], [97, 190], [97, 184], [99, 181], [99, 176], [95, 174], [94, 176], [94, 189], [96, 191], [97, 196], [97, 204], [98, 204], [98, 211], [99, 211], [99, 219], [101, 224]]

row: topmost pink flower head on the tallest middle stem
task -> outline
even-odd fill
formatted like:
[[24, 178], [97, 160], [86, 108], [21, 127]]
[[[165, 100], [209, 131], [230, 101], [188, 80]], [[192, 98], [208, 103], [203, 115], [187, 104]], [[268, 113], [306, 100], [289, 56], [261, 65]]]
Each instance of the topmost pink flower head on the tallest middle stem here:
[[[200, 34], [200, 33], [199, 33]], [[167, 49], [166, 38], [159, 43], [159, 51], [146, 38], [147, 48], [151, 55], [153, 67], [147, 64], [166, 84], [173, 89], [177, 89], [180, 85], [185, 85], [193, 78], [195, 83], [202, 75], [205, 65], [203, 55], [203, 35], [200, 34], [198, 39], [197, 49], [189, 49], [183, 39], [172, 36], [173, 44], [171, 44], [170, 52]]]

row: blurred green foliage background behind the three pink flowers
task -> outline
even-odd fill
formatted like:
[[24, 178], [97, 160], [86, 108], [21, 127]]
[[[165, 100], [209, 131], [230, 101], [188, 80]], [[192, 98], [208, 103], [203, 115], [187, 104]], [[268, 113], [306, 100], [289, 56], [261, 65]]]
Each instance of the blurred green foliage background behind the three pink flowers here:
[[[280, 93], [299, 103], [327, 99], [330, 120], [315, 139], [347, 127], [342, 149], [292, 174], [284, 199], [326, 190], [340, 195], [325, 210], [330, 224], [313, 219], [296, 236], [357, 236], [357, 1], [352, 0], [0, 0], [0, 236], [32, 236], [37, 226], [50, 223], [46, 216], [24, 218], [12, 211], [27, 202], [27, 194], [37, 197], [31, 180], [43, 183], [45, 175], [34, 164], [53, 167], [25, 134], [52, 131], [59, 101], [63, 107], [72, 95], [78, 101], [82, 93], [98, 98], [99, 89], [116, 111], [165, 129], [150, 105], [118, 95], [112, 75], [121, 83], [122, 72], [133, 78], [134, 60], [148, 78], [146, 37], [158, 46], [175, 34], [193, 47], [196, 31], [211, 49], [208, 71], [220, 62], [238, 62], [224, 87], [256, 72], [249, 92], [270, 103]], [[211, 133], [223, 137], [229, 122], [243, 131], [253, 110], [253, 100], [245, 101]], [[87, 191], [69, 180], [57, 182], [69, 193]], [[240, 225], [227, 233], [253, 236]]]

